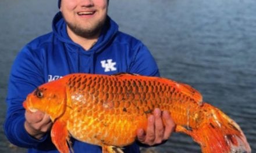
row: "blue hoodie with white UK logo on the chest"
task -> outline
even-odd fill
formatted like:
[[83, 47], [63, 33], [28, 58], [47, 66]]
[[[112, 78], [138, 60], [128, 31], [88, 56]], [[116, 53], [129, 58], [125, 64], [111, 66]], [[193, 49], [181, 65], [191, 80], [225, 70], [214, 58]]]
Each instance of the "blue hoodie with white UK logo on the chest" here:
[[[54, 17], [52, 28], [51, 33], [24, 46], [10, 72], [4, 130], [11, 143], [29, 148], [29, 152], [58, 152], [49, 133], [37, 140], [24, 129], [22, 103], [37, 86], [78, 72], [159, 76], [157, 64], [143, 43], [118, 31], [118, 25], [109, 17], [90, 50], [84, 50], [69, 38], [60, 12]], [[101, 147], [78, 140], [72, 139], [72, 144], [74, 152], [101, 152]], [[124, 148], [125, 152], [140, 152], [137, 143]]]

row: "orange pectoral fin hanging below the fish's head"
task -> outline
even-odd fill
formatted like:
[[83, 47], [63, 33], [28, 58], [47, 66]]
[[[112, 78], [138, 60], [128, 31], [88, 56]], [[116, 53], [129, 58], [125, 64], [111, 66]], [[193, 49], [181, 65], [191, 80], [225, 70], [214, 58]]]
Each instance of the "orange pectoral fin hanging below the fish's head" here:
[[69, 140], [69, 132], [67, 131], [67, 128], [66, 128], [66, 122], [62, 120], [55, 121], [54, 125], [52, 126], [51, 137], [52, 137], [52, 143], [54, 143], [54, 145], [56, 146], [59, 152], [69, 153], [69, 147], [67, 143], [70, 144], [70, 140]]

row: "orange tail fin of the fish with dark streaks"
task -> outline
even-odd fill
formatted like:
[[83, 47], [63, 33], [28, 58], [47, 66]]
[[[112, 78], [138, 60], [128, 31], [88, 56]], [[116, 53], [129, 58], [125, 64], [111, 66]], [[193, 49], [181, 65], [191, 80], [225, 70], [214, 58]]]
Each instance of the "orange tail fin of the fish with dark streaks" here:
[[204, 107], [209, 107], [211, 112], [207, 116], [207, 121], [202, 122], [198, 129], [187, 130], [179, 126], [176, 131], [189, 134], [194, 141], [201, 145], [204, 153], [251, 152], [246, 136], [236, 122], [218, 108], [207, 103], [204, 103]]

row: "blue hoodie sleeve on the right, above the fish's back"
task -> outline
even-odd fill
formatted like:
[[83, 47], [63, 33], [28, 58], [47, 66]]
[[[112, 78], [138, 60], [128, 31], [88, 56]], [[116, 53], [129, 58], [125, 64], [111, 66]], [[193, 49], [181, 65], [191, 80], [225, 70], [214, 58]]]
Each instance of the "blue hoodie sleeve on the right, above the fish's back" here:
[[143, 45], [143, 43], [138, 42], [134, 46], [133, 52], [134, 55], [129, 67], [129, 72], [159, 77], [160, 74], [157, 63], [148, 48]]

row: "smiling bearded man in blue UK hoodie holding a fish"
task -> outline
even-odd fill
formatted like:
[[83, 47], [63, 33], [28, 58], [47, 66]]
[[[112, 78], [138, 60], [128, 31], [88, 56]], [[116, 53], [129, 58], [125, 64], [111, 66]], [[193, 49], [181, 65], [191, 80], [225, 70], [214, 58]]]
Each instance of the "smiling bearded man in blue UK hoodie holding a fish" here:
[[[159, 76], [143, 43], [118, 31], [118, 25], [107, 16], [107, 0], [62, 0], [59, 8], [53, 31], [28, 43], [10, 73], [5, 134], [11, 143], [29, 148], [29, 152], [57, 152], [49, 135], [49, 116], [40, 111], [25, 112], [22, 107], [27, 94], [42, 83], [77, 72]], [[124, 151], [140, 152], [139, 145], [161, 144], [174, 127], [169, 114], [156, 109], [148, 117], [147, 131], [138, 129], [137, 141], [123, 147]], [[101, 152], [99, 146], [74, 139], [72, 148], [74, 152]]]

